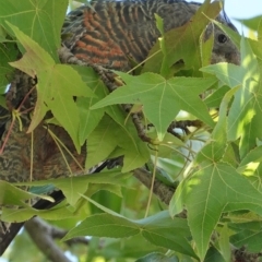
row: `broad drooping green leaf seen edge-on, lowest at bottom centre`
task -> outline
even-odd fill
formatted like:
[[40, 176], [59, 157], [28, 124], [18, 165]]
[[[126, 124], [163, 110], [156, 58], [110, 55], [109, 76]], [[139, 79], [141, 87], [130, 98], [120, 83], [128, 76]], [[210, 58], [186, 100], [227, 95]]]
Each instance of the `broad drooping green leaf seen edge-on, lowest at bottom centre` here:
[[[98, 203], [96, 205], [99, 206]], [[105, 207], [103, 210], [106, 211]], [[130, 221], [118, 214], [114, 215], [111, 212], [110, 214], [96, 214], [87, 217], [69, 231], [63, 240], [76, 236], [126, 238], [139, 233], [142, 233], [146, 240], [156, 246], [177, 250], [196, 258], [187, 240], [187, 237], [190, 236], [187, 222], [181, 218], [171, 219], [167, 212], [160, 212], [141, 221]]]

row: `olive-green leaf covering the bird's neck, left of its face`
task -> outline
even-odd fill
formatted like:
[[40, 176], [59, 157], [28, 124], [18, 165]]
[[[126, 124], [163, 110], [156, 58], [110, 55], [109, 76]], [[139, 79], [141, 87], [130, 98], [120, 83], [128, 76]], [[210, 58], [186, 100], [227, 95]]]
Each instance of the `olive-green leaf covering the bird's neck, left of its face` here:
[[199, 39], [210, 23], [207, 17], [216, 17], [219, 11], [219, 2], [205, 1], [187, 24], [165, 34], [166, 56], [159, 51], [159, 41], [156, 43], [148, 55], [150, 59], [145, 62], [143, 72], [160, 72], [162, 62], [165, 68], [170, 68], [182, 60], [186, 69], [193, 69], [194, 74], [199, 75], [199, 68], [202, 67]]

